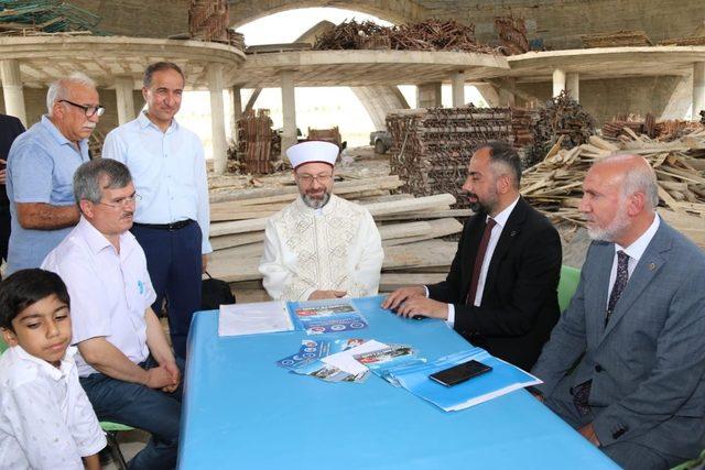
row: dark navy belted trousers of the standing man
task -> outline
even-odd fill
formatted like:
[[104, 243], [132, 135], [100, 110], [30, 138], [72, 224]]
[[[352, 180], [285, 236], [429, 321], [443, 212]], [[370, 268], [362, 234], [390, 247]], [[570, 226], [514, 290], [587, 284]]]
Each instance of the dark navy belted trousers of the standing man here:
[[200, 240], [197, 222], [178, 230], [133, 226], [131, 232], [147, 255], [159, 315], [166, 298], [169, 331], [177, 357], [186, 359], [186, 338], [194, 311], [200, 309]]

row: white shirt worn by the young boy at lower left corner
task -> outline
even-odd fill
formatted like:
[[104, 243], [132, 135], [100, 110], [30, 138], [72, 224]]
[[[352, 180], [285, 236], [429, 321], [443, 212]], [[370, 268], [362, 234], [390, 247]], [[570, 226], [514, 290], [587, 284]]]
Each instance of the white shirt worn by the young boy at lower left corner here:
[[106, 437], [68, 348], [58, 368], [13, 346], [0, 358], [0, 468], [83, 470]]

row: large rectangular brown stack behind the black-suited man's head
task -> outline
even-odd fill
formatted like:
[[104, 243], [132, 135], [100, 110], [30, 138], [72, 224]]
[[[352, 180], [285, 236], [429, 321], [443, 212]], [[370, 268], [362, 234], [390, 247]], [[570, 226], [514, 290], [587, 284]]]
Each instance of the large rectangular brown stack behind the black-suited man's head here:
[[[512, 141], [509, 108], [429, 108], [387, 116], [392, 139], [390, 170], [415, 196], [458, 195], [473, 151], [491, 140]], [[468, 203], [462, 198], [456, 208]]]

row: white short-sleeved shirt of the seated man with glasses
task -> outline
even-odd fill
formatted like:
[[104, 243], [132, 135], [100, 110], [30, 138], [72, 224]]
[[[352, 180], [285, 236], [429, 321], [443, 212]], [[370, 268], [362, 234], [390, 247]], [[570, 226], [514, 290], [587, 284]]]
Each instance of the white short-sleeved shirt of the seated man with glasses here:
[[[135, 364], [149, 356], [144, 311], [156, 295], [144, 251], [130, 232], [120, 236], [120, 252], [85, 218], [44, 260], [70, 296], [72, 343], [105, 337]], [[78, 353], [78, 374], [97, 371]]]

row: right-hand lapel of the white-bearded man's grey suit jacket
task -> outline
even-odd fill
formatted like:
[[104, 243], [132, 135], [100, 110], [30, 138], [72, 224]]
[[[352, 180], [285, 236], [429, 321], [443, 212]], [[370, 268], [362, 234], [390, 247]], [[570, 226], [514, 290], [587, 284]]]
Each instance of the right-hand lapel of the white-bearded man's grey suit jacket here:
[[[663, 221], [661, 222], [663, 225]], [[612, 313], [609, 324], [605, 329], [605, 338], [609, 332], [615, 329], [615, 326], [629, 310], [631, 305], [639, 298], [643, 289], [651, 283], [657, 273], [661, 270], [661, 266], [666, 262], [665, 258], [661, 255], [663, 251], [666, 251], [671, 247], [670, 240], [664, 233], [663, 226], [659, 227], [659, 230], [654, 234], [653, 239], [643, 252], [643, 255], [639, 260], [639, 263], [634, 267], [633, 273], [629, 276], [629, 282], [621, 293], [615, 311]]]

